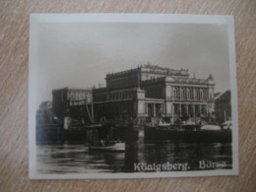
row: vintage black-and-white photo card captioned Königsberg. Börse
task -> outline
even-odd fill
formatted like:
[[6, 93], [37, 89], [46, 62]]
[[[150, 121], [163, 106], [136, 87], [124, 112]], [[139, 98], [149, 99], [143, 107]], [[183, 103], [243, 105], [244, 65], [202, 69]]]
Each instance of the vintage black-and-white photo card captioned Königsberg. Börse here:
[[233, 19], [32, 14], [32, 179], [238, 174]]

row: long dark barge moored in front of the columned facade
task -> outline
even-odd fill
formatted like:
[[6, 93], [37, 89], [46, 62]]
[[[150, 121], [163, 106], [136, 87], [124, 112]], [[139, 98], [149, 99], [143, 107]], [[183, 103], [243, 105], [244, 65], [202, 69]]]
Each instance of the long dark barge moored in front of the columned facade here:
[[231, 129], [222, 129], [218, 125], [204, 125], [199, 129], [185, 129], [180, 126], [169, 127], [148, 126], [144, 127], [145, 140], [173, 140], [200, 143], [228, 143], [231, 142]]

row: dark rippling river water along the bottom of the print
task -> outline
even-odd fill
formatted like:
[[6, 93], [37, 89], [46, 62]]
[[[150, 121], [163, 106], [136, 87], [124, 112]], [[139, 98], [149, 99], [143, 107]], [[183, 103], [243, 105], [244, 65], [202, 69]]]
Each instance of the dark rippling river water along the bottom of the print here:
[[81, 143], [36, 146], [37, 171], [47, 174], [229, 169], [231, 157], [231, 144], [144, 142], [143, 138], [126, 143], [125, 153], [92, 152]]

